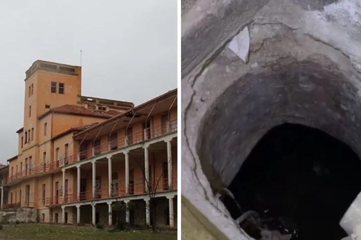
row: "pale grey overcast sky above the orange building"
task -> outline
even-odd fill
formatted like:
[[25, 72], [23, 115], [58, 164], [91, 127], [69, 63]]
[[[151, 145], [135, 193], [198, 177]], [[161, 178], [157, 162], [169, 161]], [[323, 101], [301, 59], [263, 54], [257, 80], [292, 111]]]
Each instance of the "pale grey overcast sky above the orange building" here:
[[0, 162], [17, 154], [25, 71], [80, 65], [82, 95], [138, 105], [177, 88], [177, 0], [0, 2]]

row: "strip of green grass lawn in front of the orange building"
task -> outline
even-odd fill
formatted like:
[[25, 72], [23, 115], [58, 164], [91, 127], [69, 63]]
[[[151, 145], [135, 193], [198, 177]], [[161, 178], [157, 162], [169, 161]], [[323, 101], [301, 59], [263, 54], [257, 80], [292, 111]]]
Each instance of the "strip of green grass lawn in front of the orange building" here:
[[0, 240], [176, 240], [176, 234], [115, 232], [92, 227], [45, 224], [3, 225]]

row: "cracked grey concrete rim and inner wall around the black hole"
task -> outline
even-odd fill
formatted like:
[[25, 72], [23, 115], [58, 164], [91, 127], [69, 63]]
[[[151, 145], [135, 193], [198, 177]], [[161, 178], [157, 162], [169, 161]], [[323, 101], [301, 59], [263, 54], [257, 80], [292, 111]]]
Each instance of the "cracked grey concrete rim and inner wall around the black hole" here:
[[[191, 5], [182, 7], [181, 194], [216, 239], [249, 239], [211, 186], [227, 186], [270, 128], [315, 127], [361, 156], [361, 6], [354, 0], [185, 2]], [[244, 64], [227, 46], [246, 25]]]

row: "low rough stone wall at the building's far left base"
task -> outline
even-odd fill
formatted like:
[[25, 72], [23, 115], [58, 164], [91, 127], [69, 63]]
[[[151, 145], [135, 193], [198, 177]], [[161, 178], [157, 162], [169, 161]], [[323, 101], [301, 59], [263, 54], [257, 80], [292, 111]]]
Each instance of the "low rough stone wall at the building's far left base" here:
[[14, 211], [1, 211], [0, 222], [35, 223], [37, 222], [38, 213], [34, 208], [19, 208]]

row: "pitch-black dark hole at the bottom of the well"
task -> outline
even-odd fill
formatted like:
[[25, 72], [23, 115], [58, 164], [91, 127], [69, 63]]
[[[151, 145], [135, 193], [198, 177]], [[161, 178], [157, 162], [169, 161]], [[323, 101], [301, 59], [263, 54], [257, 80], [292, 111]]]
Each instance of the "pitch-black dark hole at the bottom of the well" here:
[[[252, 149], [229, 186], [243, 211], [291, 240], [340, 240], [339, 222], [361, 191], [361, 161], [346, 144], [309, 127], [283, 124]], [[234, 219], [241, 213], [230, 198]]]

